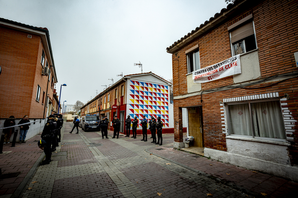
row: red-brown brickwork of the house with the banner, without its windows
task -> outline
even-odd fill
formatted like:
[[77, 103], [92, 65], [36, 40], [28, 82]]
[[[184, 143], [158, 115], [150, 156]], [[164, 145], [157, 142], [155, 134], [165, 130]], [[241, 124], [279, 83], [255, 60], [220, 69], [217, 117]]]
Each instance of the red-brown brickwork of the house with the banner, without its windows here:
[[[244, 18], [250, 13], [254, 17], [257, 47], [259, 48], [259, 60], [261, 77], [281, 75], [290, 72], [297, 72], [294, 52], [297, 52], [297, 1], [262, 1], [248, 10], [238, 12], [228, 20], [223, 21], [217, 28], [207, 31], [191, 44], [173, 53], [173, 92], [174, 96], [185, 95], [187, 93], [187, 57], [185, 51], [195, 45], [200, 49], [200, 65], [210, 66], [232, 56], [229, 32], [229, 25]], [[235, 88], [228, 91], [218, 91], [211, 94], [200, 94], [184, 99], [174, 99], [174, 133], [175, 141], [181, 142], [182, 125], [180, 110], [181, 107], [202, 105], [204, 123], [204, 146], [221, 151], [226, 151], [226, 126], [222, 123], [222, 105], [224, 98], [247, 96], [255, 94], [265, 94], [278, 92], [280, 96], [288, 94], [286, 105], [283, 105], [285, 113], [289, 115], [289, 122], [286, 123], [286, 134], [291, 142], [289, 150], [291, 163], [298, 165], [298, 130], [297, 130], [297, 78], [271, 84], [261, 83], [257, 86], [267, 86], [259, 89]], [[202, 90], [218, 88], [233, 84], [233, 77], [225, 77], [212, 82], [202, 83]], [[256, 86], [256, 85], [254, 85]], [[201, 102], [202, 100], [202, 102]]]

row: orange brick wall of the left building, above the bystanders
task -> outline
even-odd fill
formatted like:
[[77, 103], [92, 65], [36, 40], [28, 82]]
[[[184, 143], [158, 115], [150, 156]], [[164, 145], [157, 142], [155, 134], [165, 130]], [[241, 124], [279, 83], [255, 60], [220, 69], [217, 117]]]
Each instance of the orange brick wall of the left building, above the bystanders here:
[[[43, 117], [44, 105], [35, 101], [37, 84], [41, 85], [42, 99], [47, 82], [47, 77], [41, 76], [41, 37], [30, 34], [32, 38], [28, 38], [28, 34], [0, 26], [1, 118]], [[50, 84], [48, 94], [52, 97]]]

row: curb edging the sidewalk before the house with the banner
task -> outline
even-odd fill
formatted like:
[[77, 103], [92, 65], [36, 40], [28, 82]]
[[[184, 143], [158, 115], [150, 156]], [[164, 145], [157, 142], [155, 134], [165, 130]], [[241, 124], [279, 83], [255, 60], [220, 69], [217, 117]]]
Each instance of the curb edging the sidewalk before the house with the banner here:
[[233, 189], [239, 190], [239, 191], [241, 191], [241, 192], [243, 192], [243, 193], [249, 194], [249, 195], [254, 196], [254, 197], [261, 197], [260, 194], [257, 194], [257, 193], [255, 193], [255, 192], [253, 192], [253, 191], [251, 191], [251, 190], [248, 190], [248, 189], [246, 189], [246, 188], [243, 188], [243, 187], [241, 187], [241, 186], [235, 185], [235, 184], [230, 183], [230, 182], [223, 181], [223, 180], [221, 180], [220, 178], [217, 178], [217, 177], [215, 177], [215, 176], [213, 176], [213, 175], [209, 175], [209, 174], [207, 174], [207, 173], [205, 173], [205, 172], [202, 172], [202, 171], [200, 171], [200, 170], [196, 170], [196, 169], [194, 169], [194, 168], [192, 168], [192, 167], [189, 167], [189, 166], [187, 166], [187, 165], [181, 164], [181, 163], [179, 163], [179, 162], [177, 162], [177, 161], [174, 161], [174, 160], [172, 160], [172, 159], [168, 159], [168, 158], [166, 158], [166, 157], [163, 157], [163, 156], [161, 156], [161, 155], [158, 155], [158, 154], [156, 154], [156, 153], [152, 153], [152, 152], [148, 151], [148, 149], [153, 149], [153, 148], [155, 148], [155, 147], [146, 148], [145, 151], [146, 151], [147, 153], [150, 153], [150, 154], [152, 154], [152, 155], [155, 155], [155, 156], [157, 156], [157, 157], [160, 157], [160, 158], [162, 158], [162, 159], [165, 159], [165, 160], [167, 160], [167, 161], [170, 161], [170, 162], [172, 162], [172, 163], [174, 163], [174, 164], [176, 164], [176, 165], [179, 165], [179, 166], [181, 166], [181, 167], [183, 167], [183, 168], [186, 168], [186, 169], [188, 169], [188, 170], [191, 170], [191, 171], [197, 173], [198, 175], [202, 175], [202, 176], [204, 176], [204, 177], [207, 177], [207, 178], [210, 178], [210, 179], [212, 179], [212, 180], [215, 180], [215, 181], [217, 181], [217, 182], [219, 182], [219, 183], [223, 183], [224, 185], [229, 186], [229, 187], [231, 187], [231, 188], [233, 188]]

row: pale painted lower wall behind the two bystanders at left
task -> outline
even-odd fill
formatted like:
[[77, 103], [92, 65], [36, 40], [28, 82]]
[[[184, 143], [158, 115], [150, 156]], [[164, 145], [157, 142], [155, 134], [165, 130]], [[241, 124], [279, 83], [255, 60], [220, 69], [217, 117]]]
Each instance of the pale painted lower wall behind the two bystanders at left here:
[[[42, 119], [42, 118], [41, 118]], [[15, 120], [15, 124], [17, 125], [18, 122], [20, 121], [21, 119], [16, 119]], [[30, 122], [34, 121], [33, 119], [30, 119]], [[40, 120], [40, 119], [36, 119], [36, 120]], [[1, 123], [0, 123], [0, 128], [3, 128], [4, 126], [4, 121], [5, 119], [1, 119]], [[30, 138], [34, 137], [35, 135], [39, 134], [42, 132], [42, 130], [44, 129], [44, 125], [46, 123], [46, 120], [42, 120], [40, 122], [35, 122], [35, 124], [31, 123], [31, 125], [29, 126], [29, 129], [28, 129], [28, 132], [27, 132], [27, 135], [26, 135], [26, 140], [29, 140]], [[15, 130], [18, 129], [18, 136], [16, 138], [16, 142], [19, 142], [19, 139], [20, 139], [20, 127], [15, 127]], [[2, 129], [0, 130], [0, 134], [4, 134], [2, 133]], [[13, 141], [13, 134], [11, 135], [10, 137], [10, 142]]]

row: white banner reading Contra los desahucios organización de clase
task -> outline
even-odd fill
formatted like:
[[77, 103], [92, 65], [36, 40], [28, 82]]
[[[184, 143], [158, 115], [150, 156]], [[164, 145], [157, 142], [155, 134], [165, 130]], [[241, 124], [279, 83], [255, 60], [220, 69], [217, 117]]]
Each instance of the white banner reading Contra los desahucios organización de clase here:
[[217, 64], [193, 71], [193, 82], [206, 83], [234, 74], [241, 74], [240, 54]]

